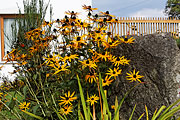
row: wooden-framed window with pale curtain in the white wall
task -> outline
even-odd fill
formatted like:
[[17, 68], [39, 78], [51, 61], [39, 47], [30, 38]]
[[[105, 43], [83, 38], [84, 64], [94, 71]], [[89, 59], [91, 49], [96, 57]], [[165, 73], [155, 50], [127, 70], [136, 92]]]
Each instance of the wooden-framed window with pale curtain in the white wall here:
[[10, 51], [10, 38], [12, 36], [11, 24], [16, 18], [16, 14], [0, 14], [0, 40], [1, 40], [1, 61], [4, 61], [4, 56], [7, 51]]

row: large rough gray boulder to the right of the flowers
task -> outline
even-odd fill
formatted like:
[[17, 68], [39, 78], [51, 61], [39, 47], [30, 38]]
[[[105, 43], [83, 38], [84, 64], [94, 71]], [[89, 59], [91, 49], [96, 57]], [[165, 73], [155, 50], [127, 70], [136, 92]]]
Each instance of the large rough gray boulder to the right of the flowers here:
[[[176, 41], [168, 33], [133, 36], [134, 44], [121, 44], [114, 51], [116, 56], [130, 59], [129, 66], [122, 66], [122, 75], [112, 87], [109, 102], [114, 104], [115, 96], [119, 100], [138, 82], [129, 83], [126, 72], [139, 70], [144, 76], [140, 84], [125, 99], [120, 111], [121, 120], [128, 120], [134, 105], [136, 110], [133, 120], [145, 112], [145, 105], [151, 117], [156, 108], [168, 106], [177, 98], [177, 82], [180, 75], [180, 52]], [[145, 120], [145, 115], [142, 120]]]

